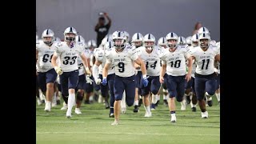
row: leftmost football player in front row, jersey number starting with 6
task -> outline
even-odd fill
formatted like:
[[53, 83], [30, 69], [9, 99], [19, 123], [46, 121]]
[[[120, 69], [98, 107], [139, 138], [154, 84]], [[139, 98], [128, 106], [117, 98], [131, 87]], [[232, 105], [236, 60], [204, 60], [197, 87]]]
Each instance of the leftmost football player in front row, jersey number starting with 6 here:
[[46, 95], [45, 110], [50, 112], [51, 102], [54, 96], [54, 82], [57, 74], [50, 63], [54, 54], [54, 31], [46, 29], [42, 32], [42, 40], [36, 43], [36, 58], [38, 85], [42, 93]]

